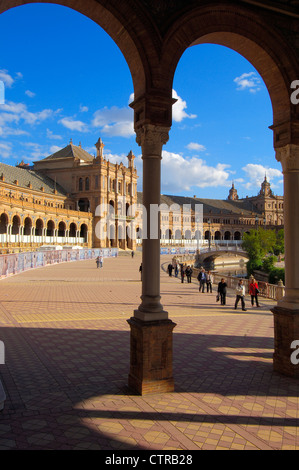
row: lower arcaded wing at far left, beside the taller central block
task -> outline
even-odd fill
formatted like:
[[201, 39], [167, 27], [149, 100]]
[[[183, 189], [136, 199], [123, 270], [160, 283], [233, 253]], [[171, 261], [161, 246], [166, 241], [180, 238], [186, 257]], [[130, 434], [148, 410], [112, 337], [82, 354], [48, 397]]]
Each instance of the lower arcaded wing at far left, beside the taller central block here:
[[91, 246], [92, 215], [76, 210], [55, 180], [21, 163], [0, 163], [0, 251], [32, 251], [42, 245]]

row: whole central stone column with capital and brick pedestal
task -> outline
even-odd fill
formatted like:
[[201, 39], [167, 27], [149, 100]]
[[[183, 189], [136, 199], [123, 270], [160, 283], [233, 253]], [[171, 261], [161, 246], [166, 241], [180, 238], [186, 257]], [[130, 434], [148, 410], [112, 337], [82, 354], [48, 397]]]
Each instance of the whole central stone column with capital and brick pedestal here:
[[151, 218], [151, 207], [160, 204], [161, 155], [168, 131], [150, 124], [137, 131], [137, 143], [142, 148], [147, 234], [142, 231], [142, 302], [128, 323], [131, 327], [129, 387], [141, 395], [174, 389], [172, 330], [175, 324], [168, 319], [160, 302], [160, 217], [158, 224]]

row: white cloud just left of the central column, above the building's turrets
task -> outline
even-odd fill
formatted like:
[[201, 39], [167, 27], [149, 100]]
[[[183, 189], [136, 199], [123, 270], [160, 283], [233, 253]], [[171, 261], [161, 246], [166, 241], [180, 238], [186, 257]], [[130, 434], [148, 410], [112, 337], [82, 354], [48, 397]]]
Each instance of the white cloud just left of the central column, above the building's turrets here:
[[110, 136], [132, 137], [134, 135], [133, 110], [129, 107], [103, 108], [93, 115], [92, 126]]

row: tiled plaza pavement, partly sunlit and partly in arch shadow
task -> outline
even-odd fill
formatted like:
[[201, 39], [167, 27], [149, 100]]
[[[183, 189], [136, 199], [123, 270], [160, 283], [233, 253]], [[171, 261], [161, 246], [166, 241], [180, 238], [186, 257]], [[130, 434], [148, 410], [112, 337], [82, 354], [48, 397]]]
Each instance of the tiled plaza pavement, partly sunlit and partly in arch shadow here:
[[[162, 257], [167, 263], [167, 257]], [[2, 449], [298, 449], [299, 381], [272, 370], [273, 303], [247, 312], [162, 269], [175, 392], [127, 389], [140, 255], [0, 281]]]

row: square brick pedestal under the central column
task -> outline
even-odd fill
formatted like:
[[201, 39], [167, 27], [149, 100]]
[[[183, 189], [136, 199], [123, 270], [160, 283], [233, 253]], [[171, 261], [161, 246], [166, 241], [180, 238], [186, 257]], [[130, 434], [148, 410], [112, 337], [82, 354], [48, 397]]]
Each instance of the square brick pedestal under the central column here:
[[131, 317], [129, 388], [139, 395], [174, 391], [171, 320]]

